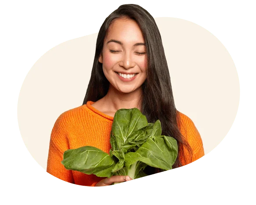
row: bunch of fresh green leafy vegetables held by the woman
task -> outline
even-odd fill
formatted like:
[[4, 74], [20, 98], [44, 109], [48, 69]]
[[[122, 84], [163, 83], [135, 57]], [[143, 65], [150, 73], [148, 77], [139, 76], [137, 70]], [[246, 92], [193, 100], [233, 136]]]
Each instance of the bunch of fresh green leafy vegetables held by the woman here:
[[147, 176], [146, 166], [172, 169], [177, 154], [177, 141], [161, 135], [161, 123], [148, 123], [137, 108], [116, 111], [110, 134], [108, 153], [96, 147], [85, 146], [64, 152], [62, 164], [66, 169], [100, 177], [112, 175], [138, 179]]

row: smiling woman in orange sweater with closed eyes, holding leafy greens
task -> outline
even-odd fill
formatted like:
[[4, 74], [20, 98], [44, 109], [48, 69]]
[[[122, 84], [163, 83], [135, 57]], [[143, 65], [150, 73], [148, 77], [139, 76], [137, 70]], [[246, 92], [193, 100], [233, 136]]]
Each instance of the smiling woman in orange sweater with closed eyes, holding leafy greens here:
[[[154, 18], [136, 4], [124, 4], [110, 14], [99, 30], [94, 65], [83, 105], [60, 115], [51, 133], [47, 172], [58, 179], [84, 186], [109, 186], [130, 180], [67, 170], [64, 151], [93, 146], [109, 153], [115, 112], [138, 108], [148, 122], [157, 119], [162, 135], [177, 140], [179, 152], [173, 168], [204, 155], [194, 123], [175, 108], [162, 40]], [[147, 167], [147, 174], [161, 170]]]

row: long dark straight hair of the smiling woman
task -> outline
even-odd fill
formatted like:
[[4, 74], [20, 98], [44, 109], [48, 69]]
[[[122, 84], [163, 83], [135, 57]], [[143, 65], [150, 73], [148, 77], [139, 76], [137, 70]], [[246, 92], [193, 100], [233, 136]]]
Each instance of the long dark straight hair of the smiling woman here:
[[[97, 36], [94, 64], [83, 104], [86, 104], [87, 101], [96, 102], [108, 93], [109, 81], [105, 77], [102, 64], [98, 59], [109, 26], [114, 22], [113, 20], [123, 17], [137, 22], [147, 49], [148, 69], [147, 79], [142, 84], [143, 102], [141, 112], [147, 117], [148, 122], [154, 123], [159, 119], [162, 126], [162, 135], [171, 136], [177, 140], [179, 151], [173, 169], [178, 168], [182, 166], [180, 158], [184, 158], [184, 148], [191, 155], [191, 159], [192, 151], [179, 130], [180, 116], [174, 104], [169, 69], [159, 29], [153, 16], [143, 7], [137, 4], [123, 4], [109, 14], [102, 23]], [[149, 169], [148, 173], [151, 174], [162, 171], [160, 169]]]

